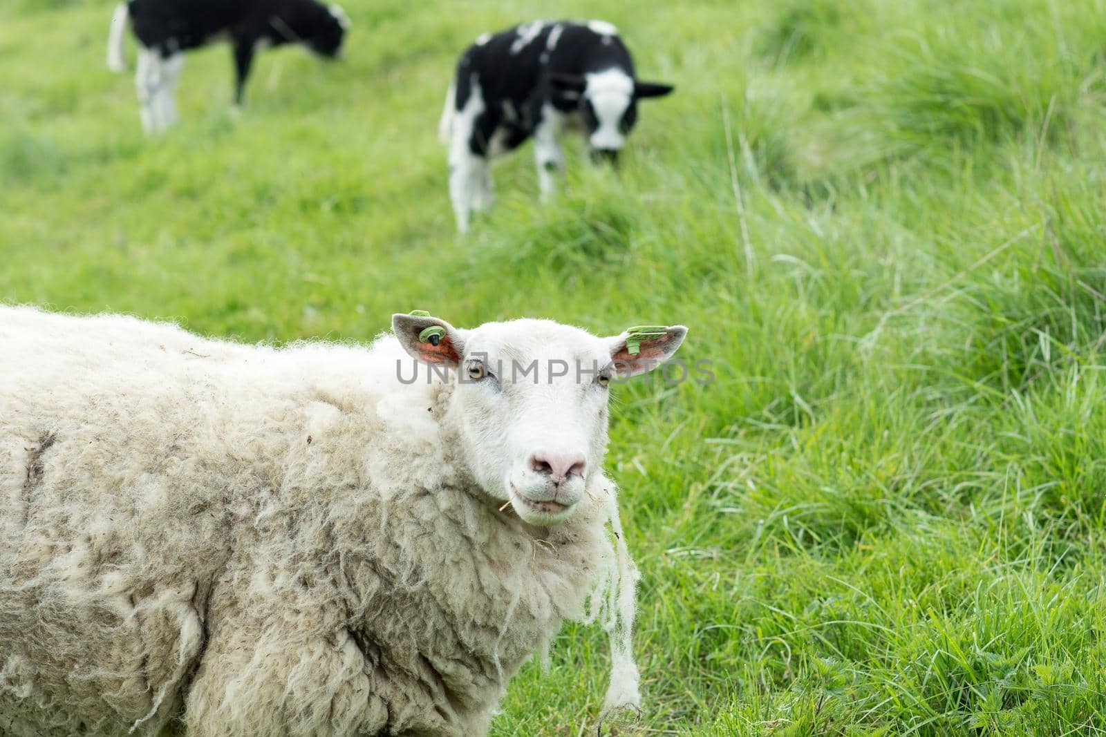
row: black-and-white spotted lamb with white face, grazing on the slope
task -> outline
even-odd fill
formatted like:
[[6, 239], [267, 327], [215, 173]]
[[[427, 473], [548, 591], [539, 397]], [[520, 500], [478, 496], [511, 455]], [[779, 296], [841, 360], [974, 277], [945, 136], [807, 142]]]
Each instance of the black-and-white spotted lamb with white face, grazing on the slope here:
[[637, 122], [637, 101], [668, 84], [638, 82], [634, 61], [604, 21], [534, 21], [486, 33], [461, 55], [438, 135], [449, 144], [449, 196], [461, 232], [492, 200], [489, 159], [533, 136], [542, 196], [564, 164], [559, 137], [582, 125], [592, 158], [616, 162]]

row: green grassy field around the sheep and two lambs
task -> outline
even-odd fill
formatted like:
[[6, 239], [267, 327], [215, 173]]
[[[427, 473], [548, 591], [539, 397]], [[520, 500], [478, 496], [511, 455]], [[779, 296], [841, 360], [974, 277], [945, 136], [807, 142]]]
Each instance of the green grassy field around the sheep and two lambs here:
[[[0, 299], [248, 341], [686, 324], [714, 383], [616, 392], [619, 734], [1106, 731], [1106, 2], [604, 3], [677, 94], [547, 207], [500, 162], [468, 238], [456, 55], [594, 3], [348, 0], [347, 59], [261, 56], [240, 117], [229, 51], [190, 55], [159, 139], [111, 7], [0, 3]], [[594, 734], [606, 668], [566, 628], [493, 734]]]

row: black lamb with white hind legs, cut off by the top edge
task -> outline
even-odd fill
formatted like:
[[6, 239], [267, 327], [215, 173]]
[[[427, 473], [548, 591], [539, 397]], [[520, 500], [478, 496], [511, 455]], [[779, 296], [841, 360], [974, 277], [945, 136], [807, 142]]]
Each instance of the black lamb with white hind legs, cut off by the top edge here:
[[234, 52], [234, 104], [241, 105], [253, 54], [269, 46], [302, 43], [334, 59], [349, 25], [337, 6], [315, 0], [125, 0], [115, 8], [107, 40], [107, 66], [126, 67], [123, 36], [127, 22], [138, 39], [142, 124], [161, 130], [177, 120], [175, 93], [184, 52], [227, 39]]

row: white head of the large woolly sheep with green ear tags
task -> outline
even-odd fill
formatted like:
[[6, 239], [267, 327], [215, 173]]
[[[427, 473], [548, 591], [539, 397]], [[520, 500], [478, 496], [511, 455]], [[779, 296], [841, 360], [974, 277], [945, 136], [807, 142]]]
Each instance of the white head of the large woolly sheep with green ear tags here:
[[449, 414], [472, 477], [544, 526], [567, 519], [599, 472], [609, 386], [666, 361], [687, 334], [674, 326], [598, 338], [533, 319], [466, 330], [404, 314], [392, 326], [414, 358], [455, 369]]

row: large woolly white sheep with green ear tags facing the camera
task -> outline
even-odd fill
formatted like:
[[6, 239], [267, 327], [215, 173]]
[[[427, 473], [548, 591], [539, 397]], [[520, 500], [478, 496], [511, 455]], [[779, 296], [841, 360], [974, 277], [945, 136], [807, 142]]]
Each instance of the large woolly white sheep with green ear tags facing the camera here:
[[637, 703], [608, 383], [686, 329], [393, 330], [275, 349], [0, 307], [0, 734], [483, 735], [589, 617], [606, 707]]

